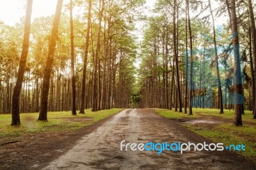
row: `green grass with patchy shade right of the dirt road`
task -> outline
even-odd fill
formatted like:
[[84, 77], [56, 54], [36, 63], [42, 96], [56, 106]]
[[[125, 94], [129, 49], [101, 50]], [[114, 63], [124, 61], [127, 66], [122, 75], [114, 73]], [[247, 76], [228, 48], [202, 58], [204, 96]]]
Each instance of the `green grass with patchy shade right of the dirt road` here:
[[[218, 109], [199, 109], [193, 108], [193, 116], [188, 114], [170, 111], [167, 109], [155, 109], [155, 111], [171, 119], [204, 119], [205, 116], [220, 117], [223, 120], [234, 120], [234, 111], [224, 110], [224, 114], [220, 114]], [[188, 127], [196, 134], [202, 135], [207, 139], [211, 139], [214, 143], [244, 144], [246, 151], [237, 151], [237, 153], [255, 159], [256, 158], [256, 120], [253, 120], [252, 112], [244, 111], [243, 127], [236, 127], [232, 123], [216, 123], [214, 126], [205, 124], [188, 124], [182, 125]], [[224, 121], [225, 122], [225, 121]]]

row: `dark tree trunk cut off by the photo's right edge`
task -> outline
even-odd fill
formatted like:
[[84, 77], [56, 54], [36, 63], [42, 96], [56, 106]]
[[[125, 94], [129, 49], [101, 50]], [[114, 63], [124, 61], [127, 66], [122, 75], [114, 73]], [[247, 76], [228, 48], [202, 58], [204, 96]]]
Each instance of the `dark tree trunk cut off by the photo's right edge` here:
[[[252, 32], [252, 44], [253, 44], [253, 58], [254, 58], [254, 72], [252, 72], [253, 76], [253, 119], [256, 119], [256, 101], [255, 101], [255, 92], [256, 92], [256, 27], [255, 27], [255, 19], [253, 14], [253, 8], [252, 8], [252, 0], [248, 0], [249, 4], [249, 13], [250, 13], [250, 22], [251, 22], [251, 32]], [[253, 60], [252, 58], [250, 60]], [[252, 63], [252, 61], [250, 61]], [[252, 65], [252, 64], [251, 64]], [[254, 75], [253, 75], [254, 74]]]

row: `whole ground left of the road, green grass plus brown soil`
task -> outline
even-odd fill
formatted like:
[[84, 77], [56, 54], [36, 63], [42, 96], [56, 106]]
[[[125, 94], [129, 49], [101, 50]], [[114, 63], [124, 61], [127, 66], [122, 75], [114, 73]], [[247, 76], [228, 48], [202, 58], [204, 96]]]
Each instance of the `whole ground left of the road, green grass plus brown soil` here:
[[10, 114], [0, 115], [0, 169], [35, 169], [72, 148], [84, 134], [123, 109], [71, 116], [70, 112], [49, 112], [47, 122], [36, 121], [38, 114], [20, 114], [20, 127], [10, 126]]

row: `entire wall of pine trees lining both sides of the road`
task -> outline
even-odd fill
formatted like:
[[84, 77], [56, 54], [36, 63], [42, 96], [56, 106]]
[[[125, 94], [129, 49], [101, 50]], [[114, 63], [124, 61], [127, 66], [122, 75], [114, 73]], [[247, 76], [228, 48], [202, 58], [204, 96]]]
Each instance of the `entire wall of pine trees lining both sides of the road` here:
[[[47, 120], [47, 111], [72, 110], [75, 115], [88, 108], [131, 106], [179, 112], [184, 107], [189, 114], [193, 107], [220, 112], [225, 107], [236, 110], [236, 125], [241, 125], [243, 109], [254, 110], [256, 118], [255, 4], [241, 1], [234, 12], [234, 1], [220, 1], [216, 9], [212, 1], [157, 1], [157, 15], [144, 17], [147, 24], [138, 48], [132, 31], [134, 20], [143, 19], [138, 15], [143, 3], [70, 0], [68, 15], [61, 13], [58, 1], [55, 16], [31, 24], [29, 46], [23, 45], [27, 51], [22, 47], [22, 35], [29, 37], [28, 27], [24, 33], [22, 29], [27, 19], [15, 26], [0, 22], [0, 112], [10, 113], [13, 107], [13, 125], [19, 125], [19, 112], [40, 112], [38, 120]], [[73, 8], [84, 13], [73, 16]], [[214, 21], [223, 14], [230, 23], [220, 29]], [[240, 39], [231, 40], [238, 33]], [[237, 105], [243, 96], [246, 100]]]

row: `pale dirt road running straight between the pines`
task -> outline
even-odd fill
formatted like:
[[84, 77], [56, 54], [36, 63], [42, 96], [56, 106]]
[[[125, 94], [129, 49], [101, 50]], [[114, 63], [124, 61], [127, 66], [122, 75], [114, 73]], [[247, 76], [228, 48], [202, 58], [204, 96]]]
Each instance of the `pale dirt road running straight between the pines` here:
[[[43, 169], [255, 169], [230, 151], [120, 151], [120, 143], [211, 143], [150, 109], [128, 109], [106, 121]], [[123, 148], [124, 150], [125, 148]]]

